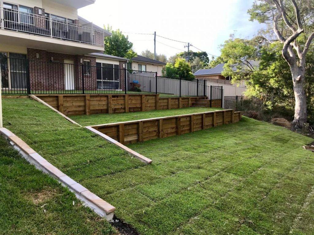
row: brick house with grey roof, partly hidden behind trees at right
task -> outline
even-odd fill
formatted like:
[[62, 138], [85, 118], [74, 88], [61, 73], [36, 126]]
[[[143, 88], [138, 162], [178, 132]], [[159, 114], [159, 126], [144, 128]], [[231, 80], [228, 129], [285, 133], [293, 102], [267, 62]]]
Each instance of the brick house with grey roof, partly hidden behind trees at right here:
[[[224, 65], [225, 64], [223, 63], [223, 64], [216, 65], [214, 68], [211, 68], [211, 69], [200, 69], [194, 73], [194, 76], [197, 79], [205, 79], [210, 82], [232, 85], [231, 84], [232, 77], [222, 76], [222, 72], [224, 71]], [[250, 67], [255, 68], [255, 67], [258, 67], [258, 65], [259, 65], [259, 61], [254, 61], [254, 60], [250, 61]], [[234, 66], [233, 69], [236, 71], [237, 67]], [[247, 71], [249, 72], [250, 68], [248, 68]], [[244, 86], [245, 83], [241, 82], [240, 85]]]

